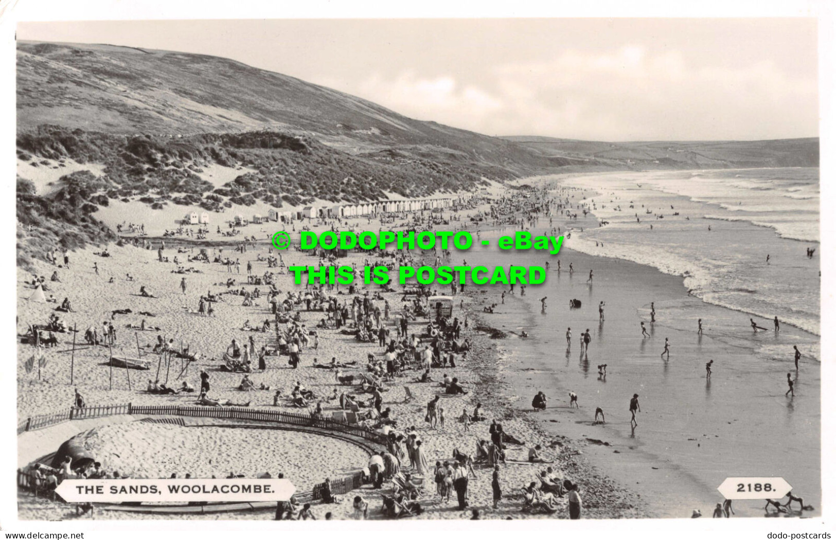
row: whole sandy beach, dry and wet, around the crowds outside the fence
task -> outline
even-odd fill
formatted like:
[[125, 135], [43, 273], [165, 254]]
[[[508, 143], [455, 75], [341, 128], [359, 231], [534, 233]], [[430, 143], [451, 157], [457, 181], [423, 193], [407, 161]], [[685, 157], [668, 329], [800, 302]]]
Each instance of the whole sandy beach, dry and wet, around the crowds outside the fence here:
[[[579, 227], [578, 222], [556, 219], [554, 225], [558, 223], [563, 227]], [[594, 219], [590, 217], [584, 223], [592, 224]], [[379, 223], [355, 220], [354, 226], [376, 230]], [[255, 227], [264, 226], [250, 228], [255, 230]], [[391, 227], [396, 230], [397, 225]], [[500, 234], [497, 231], [491, 232], [492, 227], [482, 225], [479, 228], [483, 237], [491, 238]], [[512, 229], [509, 227], [507, 230]], [[245, 232], [249, 233], [246, 229]], [[176, 246], [182, 245], [182, 242], [176, 238], [166, 239], [166, 245], [169, 246], [166, 248], [168, 256], [173, 257]], [[573, 252], [570, 249], [571, 240], [564, 246], [560, 255], [554, 257], [562, 260], [562, 273], [556, 271], [556, 262], [552, 260], [546, 283], [538, 288], [529, 288], [524, 298], [508, 295], [505, 303], [497, 307], [495, 313], [482, 313], [482, 307], [487, 303], [499, 303], [501, 288], [469, 288], [467, 293], [456, 298], [456, 301], [464, 299], [465, 311], [471, 321], [466, 332], [472, 336], [474, 349], [466, 362], [456, 369], [436, 369], [434, 377], [438, 380], [441, 375], [436, 373], [438, 371], [449, 373], [465, 381], [465, 385], [473, 391], [453, 400], [442, 400], [447, 416], [444, 430], [428, 429], [423, 418], [426, 402], [441, 389], [436, 384], [421, 385], [413, 382], [418, 375], [415, 371], [407, 372], [407, 377], [387, 387], [384, 406], [392, 408], [399, 427], [415, 425], [418, 428], [428, 450], [428, 461], [432, 463], [450, 459], [454, 448], [472, 452], [477, 439], [487, 438], [487, 423], [472, 425], [469, 432], [464, 432], [461, 424], [456, 422], [456, 416], [461, 414], [463, 408], [472, 410], [477, 402], [481, 402], [489, 419], [502, 419], [508, 432], [526, 442], [526, 446], [509, 451], [509, 458], [524, 460], [528, 446], [541, 444], [546, 449], [546, 456], [557, 460], [561, 474], [582, 485], [584, 512], [588, 517], [686, 517], [695, 507], [707, 511], [718, 500], [716, 486], [720, 481], [726, 476], [759, 474], [762, 469], [758, 467], [757, 460], [769, 459], [770, 449], [759, 446], [764, 433], [757, 429], [757, 410], [762, 405], [760, 401], [777, 405], [778, 396], [782, 397], [778, 375], [786, 369], [782, 363], [786, 363], [787, 359], [780, 362], [774, 359], [771, 364], [762, 364], [758, 361], [758, 355], [754, 354], [755, 349], [772, 350], [786, 340], [787, 343], [797, 343], [807, 348], [806, 351], [818, 346], [817, 336], [786, 327], [782, 331], [781, 341], [752, 344], [752, 339], [744, 335], [745, 325], [740, 335], [720, 331], [726, 325], [740, 324], [738, 319], [741, 313], [711, 306], [688, 296], [682, 278], [668, 276], [633, 262]], [[191, 252], [192, 248], [183, 249]], [[230, 250], [232, 247], [224, 248], [225, 253]], [[240, 257], [242, 263], [252, 260], [252, 273], [260, 275], [268, 269], [267, 265], [254, 259], [258, 254], [266, 256], [271, 250], [272, 247], [259, 242], [254, 250], [249, 248], [246, 253], [232, 255]], [[215, 317], [207, 318], [191, 313], [196, 309], [198, 295], [207, 290], [218, 292], [226, 288], [219, 284], [231, 275], [227, 273], [227, 267], [217, 263], [194, 265], [201, 272], [186, 274], [187, 289], [186, 294], [183, 294], [179, 288], [183, 276], [171, 273], [173, 263], [157, 262], [155, 251], [128, 246], [110, 247], [112, 257], [98, 257], [93, 254], [94, 251], [98, 249], [71, 253], [69, 270], [59, 269], [62, 283], [49, 283], [53, 290], [48, 291], [48, 294], [54, 294], [59, 302], [72, 291], [71, 299], [76, 313], [70, 313], [65, 318], [67, 322], [73, 324], [77, 320], [79, 329], [84, 329], [88, 324], [110, 321], [113, 309], [130, 308], [134, 313], [115, 316], [118, 354], [135, 356], [137, 339], [140, 349], [150, 350], [157, 334], [164, 335], [166, 339], [175, 339], [176, 344], [182, 339], [182, 343], [189, 345], [191, 351], [206, 355], [206, 360], [190, 367], [184, 380], [198, 386], [199, 370], [207, 369], [212, 377], [213, 397], [235, 402], [252, 400], [254, 407], [273, 407], [272, 391], [242, 393], [236, 390], [241, 380], [240, 374], [217, 371], [220, 363], [217, 358], [233, 338], [244, 342], [252, 335], [257, 348], [273, 341], [272, 333], [238, 330], [244, 320], [256, 325], [264, 319], [272, 319], [268, 306], [256, 300], [252, 308], [245, 308], [240, 305], [242, 297], [225, 295], [226, 301], [215, 306]], [[361, 255], [353, 253], [345, 261], [361, 265], [364, 258]], [[180, 256], [185, 258], [186, 253], [180, 253]], [[283, 257], [288, 265], [315, 264], [313, 258], [300, 252], [284, 252]], [[482, 248], [474, 248], [467, 257], [472, 263], [483, 262], [488, 265], [499, 264], [502, 257], [517, 257], [513, 262], [515, 264], [543, 264], [543, 260], [540, 260], [543, 257], [536, 254], [498, 254], [501, 258], [497, 259], [496, 252]], [[521, 262], [518, 257], [523, 257], [525, 262]], [[572, 275], [566, 271], [570, 261], [575, 267]], [[94, 273], [94, 263], [99, 267], [99, 275]], [[49, 275], [54, 270], [42, 262], [38, 264], [42, 265], [38, 268], [39, 274]], [[232, 278], [246, 281], [243, 266], [241, 274], [235, 273], [233, 268]], [[585, 283], [590, 267], [595, 270], [593, 287]], [[134, 278], [133, 281], [126, 281], [127, 273]], [[111, 276], [114, 283], [108, 283]], [[24, 278], [26, 276], [21, 274], [18, 280], [19, 332], [25, 329], [24, 323], [28, 321], [45, 320], [52, 308], [49, 304], [31, 303], [25, 299], [31, 293], [31, 288], [22, 283]], [[68, 292], [64, 293], [62, 288], [68, 285]], [[158, 298], [137, 296], [140, 285], [145, 285]], [[245, 288], [252, 289], [252, 286]], [[293, 286], [289, 277], [283, 277], [279, 288], [287, 290], [297, 287]], [[545, 292], [541, 294], [541, 290]], [[359, 292], [362, 293], [363, 289]], [[548, 294], [547, 313], [540, 313], [538, 299], [545, 294]], [[393, 306], [400, 305], [400, 293], [385, 293], [384, 296]], [[566, 306], [569, 298], [581, 298], [584, 308], [568, 310]], [[599, 298], [606, 301], [607, 320], [601, 325], [597, 313]], [[652, 337], [641, 339], [638, 321], [649, 320], [651, 301], [655, 302], [657, 322], [648, 325]], [[147, 323], [161, 327], [161, 331], [135, 333], [126, 329], [125, 324], [140, 322], [142, 317], [135, 314], [139, 311], [154, 313], [154, 318], [146, 318]], [[695, 334], [697, 312], [702, 313], [701, 317], [706, 320], [706, 335], [701, 339], [697, 339]], [[458, 308], [454, 314], [464, 317]], [[318, 320], [317, 315], [303, 313], [303, 321], [309, 327], [314, 326]], [[508, 333], [507, 338], [490, 339], [483, 332], [473, 331], [480, 326], [502, 329]], [[566, 349], [563, 337], [567, 326], [572, 327], [574, 336], [573, 347], [569, 350]], [[592, 329], [593, 335], [588, 359], [579, 358], [577, 341], [585, 328]], [[523, 329], [528, 332], [528, 339], [520, 338]], [[63, 338], [59, 350], [69, 349], [66, 346], [66, 335], [59, 337]], [[335, 357], [339, 361], [357, 360], [362, 365], [366, 354], [380, 352], [376, 344], [358, 344], [354, 339], [333, 330], [320, 330], [319, 337], [318, 350], [303, 349], [299, 369], [288, 369], [286, 357], [268, 357], [267, 371], [252, 374], [252, 380], [257, 385], [269, 385], [273, 389], [283, 389], [286, 393], [299, 380], [319, 396], [329, 395], [334, 387], [334, 374], [329, 370], [313, 369], [311, 366], [314, 359], [325, 363]], [[671, 360], [667, 363], [661, 362], [658, 356], [660, 350], [656, 350], [660, 349], [660, 340], [664, 340], [664, 337], [669, 337], [675, 344]], [[117, 354], [116, 349], [114, 354]], [[48, 349], [46, 352], [48, 367], [43, 370], [42, 380], [38, 381], [37, 374], [27, 374], [23, 369], [22, 360], [30, 353], [28, 349], [20, 349], [18, 415], [25, 417], [59, 410], [72, 402], [74, 387], [69, 385], [69, 354], [59, 354], [54, 350]], [[136, 391], [144, 387], [147, 379], [154, 378], [155, 369], [150, 372], [131, 371], [133, 390], [128, 389], [125, 370], [114, 369], [113, 390], [109, 390], [110, 369], [104, 365], [108, 354], [107, 349], [98, 347], [75, 355], [75, 387], [79, 388], [90, 405], [129, 401], [155, 405], [193, 403], [192, 395], [160, 396]], [[707, 385], [706, 380], [701, 380], [705, 373], [705, 362], [702, 359], [706, 356], [717, 358], [716, 374]], [[677, 359], [683, 360], [677, 363]], [[601, 380], [597, 375], [596, 366], [599, 363], [608, 364], [606, 380]], [[172, 386], [180, 384], [175, 373], [179, 372], [178, 368], [172, 366], [169, 381]], [[165, 370], [163, 367], [162, 371]], [[740, 384], [744, 379], [747, 384]], [[775, 381], [777, 386], [769, 390], [767, 387]], [[403, 385], [410, 385], [416, 400], [403, 403]], [[776, 427], [783, 430], [782, 437], [785, 440], [794, 441], [796, 446], [793, 451], [818, 460], [818, 363], [809, 364], [798, 388], [803, 389], [804, 394], [795, 400], [793, 409], [784, 410], [782, 414], [786, 415], [786, 420], [779, 422]], [[533, 413], [530, 401], [538, 390], [546, 392], [551, 398], [551, 405], [546, 411]], [[580, 409], [568, 410], [568, 391], [579, 394]], [[644, 412], [639, 416], [639, 429], [631, 433], [626, 404], [634, 391], [641, 395]], [[746, 400], [752, 401], [751, 414], [734, 405], [740, 397], [740, 391], [747, 392]], [[607, 414], [605, 426], [593, 425], [597, 406], [601, 406]], [[333, 405], [326, 405], [326, 411], [332, 409]], [[803, 420], [793, 421], [794, 418], [802, 417]], [[672, 425], [676, 426], [675, 429], [671, 429]], [[217, 437], [212, 440], [222, 441]], [[741, 447], [747, 448], [745, 455], [736, 453], [736, 449]], [[758, 449], [762, 449], [762, 456], [757, 454]], [[340, 463], [346, 462], [348, 466], [353, 454], [348, 452], [348, 458], [342, 453], [340, 456]], [[736, 456], [741, 457], [737, 459]], [[354, 465], [364, 466], [363, 461], [358, 458]], [[188, 462], [178, 465], [187, 467]], [[772, 471], [776, 470], [772, 468]], [[479, 479], [472, 480], [470, 485], [472, 506], [483, 509], [486, 518], [521, 517], [519, 509], [522, 499], [517, 493], [528, 481], [534, 480], [534, 467], [522, 464], [503, 468], [503, 491], [509, 497], [496, 511], [490, 508], [488, 472], [479, 472]], [[208, 471], [206, 473], [209, 474]], [[804, 496], [810, 497], [813, 506], [818, 507], [818, 471], [811, 468], [805, 472], [803, 468], [793, 466], [793, 461], [782, 461], [781, 470], [776, 473], [800, 478], [801, 481], [796, 482], [803, 485]], [[430, 491], [433, 490], [434, 486], [431, 485]], [[367, 499], [380, 497], [380, 493], [375, 490], [361, 491]], [[346, 500], [349, 498], [345, 497]], [[564, 504], [563, 499], [558, 499], [558, 502]], [[345, 512], [334, 509], [333, 505], [329, 505], [328, 511], [334, 512], [335, 517], [347, 517], [351, 512], [350, 503], [345, 500], [339, 508]], [[762, 515], [762, 512], [757, 512], [760, 508], [757, 504], [741, 504], [739, 509], [736, 507], [736, 511], [744, 516], [755, 516]], [[458, 512], [453, 504], [437, 502], [435, 497], [427, 503], [426, 510], [422, 517], [430, 519], [469, 515], [469, 512]], [[43, 502], [26, 502], [21, 507], [21, 517], [46, 517], [49, 512], [55, 511], [54, 507], [44, 506]], [[104, 512], [108, 518], [123, 518], [111, 515], [115, 513]], [[239, 518], [247, 515], [259, 519], [272, 517], [270, 512], [257, 512], [213, 518]], [[566, 509], [563, 508], [556, 516], [567, 517]]]

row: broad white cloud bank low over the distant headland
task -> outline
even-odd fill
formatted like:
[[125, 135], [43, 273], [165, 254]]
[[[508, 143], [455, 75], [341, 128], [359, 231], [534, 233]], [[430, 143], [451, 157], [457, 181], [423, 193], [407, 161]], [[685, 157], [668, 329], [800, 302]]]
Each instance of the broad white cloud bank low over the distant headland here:
[[815, 135], [817, 83], [770, 61], [744, 69], [689, 65], [682, 53], [627, 45], [568, 49], [548, 61], [456, 74], [371, 76], [356, 92], [404, 115], [487, 135], [598, 140], [746, 139]]

